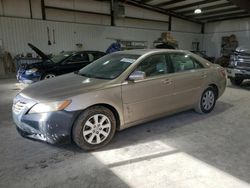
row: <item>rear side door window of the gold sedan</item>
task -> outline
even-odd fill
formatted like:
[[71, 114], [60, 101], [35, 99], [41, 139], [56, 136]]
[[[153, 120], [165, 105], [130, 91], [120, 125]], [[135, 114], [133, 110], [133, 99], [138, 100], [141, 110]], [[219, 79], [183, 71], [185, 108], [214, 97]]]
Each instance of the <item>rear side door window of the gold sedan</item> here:
[[173, 53], [169, 54], [169, 57], [173, 64], [174, 72], [203, 68], [199, 62], [197, 62], [187, 54]]

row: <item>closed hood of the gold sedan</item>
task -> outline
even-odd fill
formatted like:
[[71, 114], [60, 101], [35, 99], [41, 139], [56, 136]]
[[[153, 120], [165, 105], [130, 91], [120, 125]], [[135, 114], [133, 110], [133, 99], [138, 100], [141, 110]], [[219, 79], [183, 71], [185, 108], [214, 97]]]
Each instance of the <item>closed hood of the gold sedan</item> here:
[[109, 86], [110, 82], [112, 81], [70, 73], [34, 83], [21, 93], [23, 96], [39, 102], [65, 100], [93, 90], [104, 89]]

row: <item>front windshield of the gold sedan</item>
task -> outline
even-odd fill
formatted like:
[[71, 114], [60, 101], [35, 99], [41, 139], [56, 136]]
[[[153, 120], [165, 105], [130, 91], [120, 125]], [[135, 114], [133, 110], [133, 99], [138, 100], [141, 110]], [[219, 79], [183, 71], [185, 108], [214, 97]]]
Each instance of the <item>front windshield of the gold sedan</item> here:
[[131, 54], [106, 55], [81, 69], [78, 74], [89, 78], [114, 79], [139, 57]]

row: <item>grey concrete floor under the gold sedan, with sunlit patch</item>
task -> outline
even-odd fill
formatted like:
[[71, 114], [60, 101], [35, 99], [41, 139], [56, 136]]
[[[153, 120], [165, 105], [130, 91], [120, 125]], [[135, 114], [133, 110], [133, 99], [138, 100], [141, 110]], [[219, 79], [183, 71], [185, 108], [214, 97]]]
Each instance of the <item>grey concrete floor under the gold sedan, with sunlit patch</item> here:
[[230, 84], [214, 111], [193, 111], [118, 132], [83, 152], [19, 136], [15, 80], [0, 80], [0, 187], [250, 187], [250, 83]]

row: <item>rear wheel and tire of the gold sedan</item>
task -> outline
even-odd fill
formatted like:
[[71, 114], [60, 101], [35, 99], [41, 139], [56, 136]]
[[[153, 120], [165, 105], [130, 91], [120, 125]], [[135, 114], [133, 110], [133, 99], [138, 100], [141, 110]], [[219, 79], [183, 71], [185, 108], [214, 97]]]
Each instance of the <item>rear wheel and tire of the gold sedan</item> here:
[[213, 87], [208, 87], [203, 91], [199, 104], [195, 111], [201, 114], [207, 114], [214, 109], [217, 100], [217, 92]]

